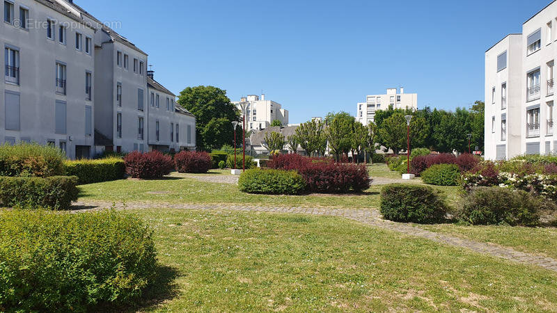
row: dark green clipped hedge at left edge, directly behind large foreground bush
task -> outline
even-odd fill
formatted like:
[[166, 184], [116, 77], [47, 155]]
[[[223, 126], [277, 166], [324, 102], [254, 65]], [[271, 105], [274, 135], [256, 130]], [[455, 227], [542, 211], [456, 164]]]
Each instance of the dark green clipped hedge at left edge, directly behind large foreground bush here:
[[70, 209], [79, 193], [77, 180], [75, 176], [0, 177], [0, 205]]

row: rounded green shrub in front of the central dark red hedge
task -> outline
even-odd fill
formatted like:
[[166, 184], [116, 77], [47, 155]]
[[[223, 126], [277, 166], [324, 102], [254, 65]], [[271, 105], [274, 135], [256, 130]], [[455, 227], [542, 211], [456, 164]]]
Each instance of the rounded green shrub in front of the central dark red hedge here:
[[246, 170], [238, 179], [240, 191], [269, 195], [298, 195], [306, 182], [295, 170]]

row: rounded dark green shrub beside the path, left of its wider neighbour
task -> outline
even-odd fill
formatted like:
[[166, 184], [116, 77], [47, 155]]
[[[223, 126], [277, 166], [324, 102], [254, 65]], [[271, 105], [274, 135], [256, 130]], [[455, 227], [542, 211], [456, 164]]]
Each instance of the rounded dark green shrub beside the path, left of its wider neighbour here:
[[381, 189], [381, 214], [388, 220], [404, 223], [440, 223], [448, 206], [429, 186], [391, 184]]

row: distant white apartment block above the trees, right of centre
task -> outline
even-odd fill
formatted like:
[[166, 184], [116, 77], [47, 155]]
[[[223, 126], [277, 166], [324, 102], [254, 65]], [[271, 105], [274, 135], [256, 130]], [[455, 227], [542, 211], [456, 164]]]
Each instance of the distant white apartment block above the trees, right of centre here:
[[389, 109], [389, 106], [394, 109], [418, 109], [417, 93], [405, 93], [405, 88], [402, 87], [400, 93], [397, 91], [397, 88], [389, 88], [386, 95], [368, 95], [366, 102], [357, 104], [356, 120], [368, 125], [375, 121], [375, 111]]

